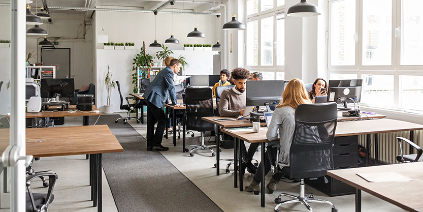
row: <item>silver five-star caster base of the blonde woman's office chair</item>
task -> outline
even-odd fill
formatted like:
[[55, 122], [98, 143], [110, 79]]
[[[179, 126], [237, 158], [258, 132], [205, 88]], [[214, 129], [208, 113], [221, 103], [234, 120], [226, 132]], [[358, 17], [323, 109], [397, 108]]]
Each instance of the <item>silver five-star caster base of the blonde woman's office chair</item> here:
[[[285, 201], [281, 201], [281, 199], [280, 199], [281, 196], [289, 197], [291, 199], [285, 200]], [[296, 197], [294, 195], [290, 195], [290, 194], [286, 194], [286, 193], [279, 194], [278, 197], [275, 199], [275, 203], [277, 204], [275, 206], [275, 212], [280, 212], [279, 207], [281, 205], [283, 205], [283, 204], [290, 204], [290, 203], [301, 203], [301, 204], [303, 204], [307, 208], [307, 211], [312, 212], [313, 209], [311, 208], [309, 202], [329, 204], [329, 205], [332, 206], [332, 208], [331, 208], [331, 211], [332, 212], [337, 212], [338, 211], [338, 208], [335, 207], [335, 205], [332, 204], [332, 202], [327, 201], [327, 200], [322, 200], [322, 199], [314, 199], [313, 194], [311, 194], [311, 193], [304, 194], [304, 179], [301, 179], [301, 183], [300, 183], [300, 196]]]

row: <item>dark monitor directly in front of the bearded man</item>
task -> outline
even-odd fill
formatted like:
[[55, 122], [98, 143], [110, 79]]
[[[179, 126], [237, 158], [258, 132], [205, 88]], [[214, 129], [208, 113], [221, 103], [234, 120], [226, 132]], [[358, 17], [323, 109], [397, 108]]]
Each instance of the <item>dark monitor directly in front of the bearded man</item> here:
[[283, 80], [247, 81], [247, 106], [262, 106], [265, 103], [280, 102]]

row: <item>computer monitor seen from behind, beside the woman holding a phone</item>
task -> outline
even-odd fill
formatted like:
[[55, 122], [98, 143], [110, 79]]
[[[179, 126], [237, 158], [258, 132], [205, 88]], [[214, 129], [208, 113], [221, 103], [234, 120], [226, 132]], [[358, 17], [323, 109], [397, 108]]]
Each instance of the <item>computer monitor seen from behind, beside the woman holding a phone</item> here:
[[336, 102], [338, 104], [344, 102], [351, 102], [351, 99], [356, 99], [360, 102], [362, 93], [362, 79], [342, 79], [329, 80], [328, 102]]

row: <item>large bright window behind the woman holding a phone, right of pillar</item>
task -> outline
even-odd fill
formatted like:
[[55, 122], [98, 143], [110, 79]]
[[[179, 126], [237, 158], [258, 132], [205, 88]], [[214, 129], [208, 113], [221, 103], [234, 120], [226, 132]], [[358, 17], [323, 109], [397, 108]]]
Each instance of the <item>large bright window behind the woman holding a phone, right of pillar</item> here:
[[423, 111], [423, 1], [330, 1], [330, 79], [363, 79], [363, 105]]

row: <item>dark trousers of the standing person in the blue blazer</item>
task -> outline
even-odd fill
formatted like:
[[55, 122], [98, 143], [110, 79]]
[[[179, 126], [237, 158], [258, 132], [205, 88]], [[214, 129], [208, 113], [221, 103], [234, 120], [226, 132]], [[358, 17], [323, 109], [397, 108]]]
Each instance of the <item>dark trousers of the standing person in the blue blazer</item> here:
[[[147, 102], [147, 147], [160, 146], [166, 127], [166, 116], [163, 108]], [[156, 132], [154, 125], [157, 123]]]

